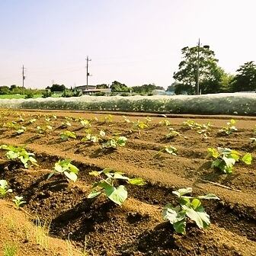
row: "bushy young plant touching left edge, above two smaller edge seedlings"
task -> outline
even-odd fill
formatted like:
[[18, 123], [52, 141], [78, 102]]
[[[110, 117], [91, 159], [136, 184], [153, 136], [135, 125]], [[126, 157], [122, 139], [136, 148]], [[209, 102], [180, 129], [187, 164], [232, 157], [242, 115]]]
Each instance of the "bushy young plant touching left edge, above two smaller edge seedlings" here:
[[29, 168], [30, 165], [37, 165], [37, 160], [34, 158], [34, 153], [27, 152], [22, 146], [7, 146], [2, 145], [0, 149], [7, 150], [6, 156], [10, 160], [19, 159], [24, 165], [24, 168]]

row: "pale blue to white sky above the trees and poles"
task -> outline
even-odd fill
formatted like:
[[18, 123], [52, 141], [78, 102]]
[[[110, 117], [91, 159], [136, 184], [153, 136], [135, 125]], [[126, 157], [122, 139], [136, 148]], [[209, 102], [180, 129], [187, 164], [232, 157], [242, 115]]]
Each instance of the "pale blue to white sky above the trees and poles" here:
[[210, 45], [235, 73], [256, 60], [254, 0], [0, 0], [0, 86], [155, 83], [167, 88], [181, 49]]

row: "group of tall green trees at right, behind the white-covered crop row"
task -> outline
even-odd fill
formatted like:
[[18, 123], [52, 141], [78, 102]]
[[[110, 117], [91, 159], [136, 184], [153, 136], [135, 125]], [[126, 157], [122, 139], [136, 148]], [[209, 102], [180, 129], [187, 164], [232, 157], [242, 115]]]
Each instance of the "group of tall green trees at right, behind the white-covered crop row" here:
[[256, 91], [256, 65], [253, 61], [245, 62], [232, 75], [218, 66], [219, 60], [210, 46], [186, 46], [181, 55], [178, 71], [173, 75], [174, 83], [167, 91], [196, 94], [197, 79], [201, 94]]

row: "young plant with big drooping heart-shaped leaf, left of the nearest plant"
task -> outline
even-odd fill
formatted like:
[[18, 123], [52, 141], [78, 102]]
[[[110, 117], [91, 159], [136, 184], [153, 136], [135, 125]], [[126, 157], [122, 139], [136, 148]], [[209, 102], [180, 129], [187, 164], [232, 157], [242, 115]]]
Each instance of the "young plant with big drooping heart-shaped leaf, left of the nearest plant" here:
[[123, 185], [117, 186], [117, 181], [126, 181], [127, 184], [133, 184], [142, 186], [145, 182], [142, 178], [128, 178], [120, 171], [113, 171], [110, 168], [105, 168], [103, 171], [91, 171], [90, 175], [98, 178], [98, 182], [95, 182], [92, 186], [91, 193], [87, 198], [98, 197], [100, 194], [104, 194], [108, 199], [122, 205], [128, 197], [126, 187]]

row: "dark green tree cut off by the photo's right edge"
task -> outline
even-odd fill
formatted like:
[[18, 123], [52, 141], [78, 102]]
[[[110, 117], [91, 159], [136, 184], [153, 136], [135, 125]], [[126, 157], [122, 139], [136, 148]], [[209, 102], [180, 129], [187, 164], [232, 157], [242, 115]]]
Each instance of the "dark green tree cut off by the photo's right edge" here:
[[240, 66], [232, 82], [232, 91], [256, 91], [256, 64], [245, 62]]

